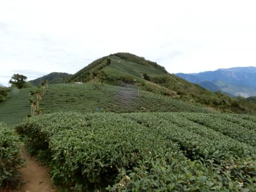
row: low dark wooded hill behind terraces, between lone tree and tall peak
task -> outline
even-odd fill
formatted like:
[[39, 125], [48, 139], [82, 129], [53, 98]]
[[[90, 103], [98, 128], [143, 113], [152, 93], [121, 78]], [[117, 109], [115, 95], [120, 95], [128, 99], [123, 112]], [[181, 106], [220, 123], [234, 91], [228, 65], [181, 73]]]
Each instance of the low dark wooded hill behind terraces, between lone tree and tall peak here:
[[70, 78], [72, 75], [69, 73], [58, 73], [58, 72], [52, 72], [48, 75], [39, 77], [37, 79], [28, 81], [32, 85], [39, 85], [42, 81], [47, 80], [48, 84], [59, 84], [63, 83], [64, 79]]

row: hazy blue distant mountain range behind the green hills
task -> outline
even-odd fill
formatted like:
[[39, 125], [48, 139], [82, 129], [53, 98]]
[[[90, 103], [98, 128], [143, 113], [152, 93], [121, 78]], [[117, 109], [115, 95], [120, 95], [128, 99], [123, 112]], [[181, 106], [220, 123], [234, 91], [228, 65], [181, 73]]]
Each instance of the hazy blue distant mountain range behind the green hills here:
[[175, 75], [202, 87], [220, 90], [232, 96], [256, 96], [256, 67], [233, 67], [201, 73], [176, 73]]

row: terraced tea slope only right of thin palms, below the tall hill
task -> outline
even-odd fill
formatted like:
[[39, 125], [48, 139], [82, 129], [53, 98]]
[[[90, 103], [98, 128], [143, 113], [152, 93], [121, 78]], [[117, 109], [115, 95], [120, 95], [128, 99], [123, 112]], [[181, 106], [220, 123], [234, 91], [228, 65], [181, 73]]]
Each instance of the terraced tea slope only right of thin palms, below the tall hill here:
[[52, 85], [40, 102], [44, 113], [55, 111], [84, 112], [167, 112], [190, 111], [212, 113], [204, 108], [189, 105], [147, 91], [118, 87], [109, 84]]

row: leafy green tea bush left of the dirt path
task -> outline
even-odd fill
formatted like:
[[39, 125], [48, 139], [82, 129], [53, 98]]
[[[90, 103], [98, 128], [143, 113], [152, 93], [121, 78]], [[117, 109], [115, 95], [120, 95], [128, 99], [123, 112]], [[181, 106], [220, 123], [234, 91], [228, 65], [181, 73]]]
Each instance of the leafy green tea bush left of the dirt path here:
[[0, 189], [7, 185], [17, 185], [23, 165], [19, 137], [0, 122]]

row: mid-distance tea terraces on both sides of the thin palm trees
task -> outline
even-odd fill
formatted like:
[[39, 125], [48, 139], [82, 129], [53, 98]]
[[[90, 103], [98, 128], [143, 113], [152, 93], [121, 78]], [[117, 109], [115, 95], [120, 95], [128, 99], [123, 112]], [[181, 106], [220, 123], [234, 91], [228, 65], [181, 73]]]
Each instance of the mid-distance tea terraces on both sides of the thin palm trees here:
[[[103, 88], [103, 90], [102, 90]], [[13, 90], [9, 99], [0, 107], [0, 122], [14, 125], [30, 114], [29, 90], [36, 87]], [[42, 113], [56, 111], [86, 112], [204, 112], [212, 111], [180, 102], [167, 96], [147, 91], [117, 87], [109, 84], [49, 85], [39, 104]], [[96, 109], [97, 108], [97, 109]]]

